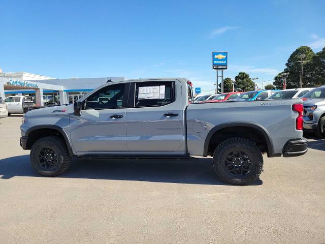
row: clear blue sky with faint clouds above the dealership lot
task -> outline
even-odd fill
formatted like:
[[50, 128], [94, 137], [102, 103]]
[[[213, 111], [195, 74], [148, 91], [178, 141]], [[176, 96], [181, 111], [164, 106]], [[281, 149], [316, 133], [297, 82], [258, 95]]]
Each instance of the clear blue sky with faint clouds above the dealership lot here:
[[301, 45], [325, 46], [325, 1], [1, 1], [0, 68], [56, 78], [224, 77], [272, 83]]

